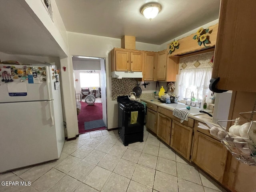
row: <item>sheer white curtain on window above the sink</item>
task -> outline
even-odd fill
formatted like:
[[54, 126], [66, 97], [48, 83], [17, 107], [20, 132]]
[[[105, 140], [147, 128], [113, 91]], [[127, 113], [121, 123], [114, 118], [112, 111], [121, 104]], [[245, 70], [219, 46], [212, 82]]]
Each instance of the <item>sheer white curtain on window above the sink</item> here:
[[[180, 72], [178, 81], [178, 95], [180, 99], [188, 97], [188, 90], [194, 91], [196, 100], [201, 99], [208, 94], [212, 68], [193, 68], [183, 69]], [[196, 92], [195, 92], [196, 89]]]

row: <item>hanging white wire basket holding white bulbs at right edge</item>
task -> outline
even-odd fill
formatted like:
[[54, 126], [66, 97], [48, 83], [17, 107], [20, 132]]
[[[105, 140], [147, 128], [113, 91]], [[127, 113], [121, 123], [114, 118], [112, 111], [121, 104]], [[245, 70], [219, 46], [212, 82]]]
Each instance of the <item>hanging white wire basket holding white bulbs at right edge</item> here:
[[[256, 113], [254, 111], [255, 109], [255, 104], [254, 108], [251, 112], [242, 112], [240, 113], [240, 116], [245, 118], [246, 120], [219, 120], [217, 121], [218, 125], [224, 129], [219, 122], [232, 122], [232, 121], [247, 121], [251, 122], [250, 127], [248, 132], [250, 132], [250, 129], [252, 127], [252, 122], [253, 122], [253, 115]], [[250, 119], [246, 117], [246, 115], [250, 115]], [[255, 121], [254, 121], [255, 122]], [[251, 138], [237, 138], [237, 137], [232, 137], [229, 135], [229, 132], [227, 132], [226, 138], [222, 139], [221, 142], [224, 144], [224, 146], [227, 148], [227, 150], [240, 162], [243, 162], [245, 164], [248, 164], [250, 166], [256, 166], [256, 143], [252, 142]], [[244, 140], [244, 142], [239, 142], [239, 141], [234, 141], [234, 139], [237, 140]]]

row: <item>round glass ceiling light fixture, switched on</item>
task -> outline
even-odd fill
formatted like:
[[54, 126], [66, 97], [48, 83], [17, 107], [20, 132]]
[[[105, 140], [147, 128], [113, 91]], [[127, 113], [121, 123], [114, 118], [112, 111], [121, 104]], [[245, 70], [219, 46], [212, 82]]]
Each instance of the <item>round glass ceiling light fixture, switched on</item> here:
[[144, 15], [147, 19], [151, 20], [157, 16], [161, 8], [162, 6], [156, 2], [145, 4], [141, 8], [141, 14]]

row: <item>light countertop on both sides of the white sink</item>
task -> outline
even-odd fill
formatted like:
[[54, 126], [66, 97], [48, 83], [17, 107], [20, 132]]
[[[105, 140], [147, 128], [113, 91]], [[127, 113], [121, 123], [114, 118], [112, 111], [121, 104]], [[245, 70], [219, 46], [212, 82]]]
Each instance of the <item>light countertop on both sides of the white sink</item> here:
[[[151, 103], [151, 104], [154, 104], [156, 106], [159, 106], [159, 107], [171, 110], [171, 111], [174, 110], [174, 107], [172, 107], [172, 103], [170, 103], [170, 104], [161, 103], [158, 99], [155, 99], [155, 98], [140, 98], [140, 100], [147, 104]], [[210, 114], [212, 114], [212, 113], [210, 113]], [[192, 116], [189, 114], [188, 117], [190, 117], [194, 120], [198, 120], [200, 122], [207, 121], [207, 122], [212, 123], [212, 117], [208, 116], [207, 114], [202, 113], [202, 115], [196, 115], [196, 116]]]

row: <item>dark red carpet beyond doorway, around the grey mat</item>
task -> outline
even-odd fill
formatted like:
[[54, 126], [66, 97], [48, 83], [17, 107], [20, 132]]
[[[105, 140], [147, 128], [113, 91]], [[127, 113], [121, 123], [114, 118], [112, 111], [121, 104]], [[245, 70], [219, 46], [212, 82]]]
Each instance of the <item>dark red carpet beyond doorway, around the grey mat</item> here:
[[96, 129], [84, 130], [84, 122], [102, 119], [102, 103], [94, 103], [94, 105], [88, 105], [83, 101], [80, 103], [81, 110], [77, 116], [79, 134], [106, 129], [106, 127], [100, 127]]

